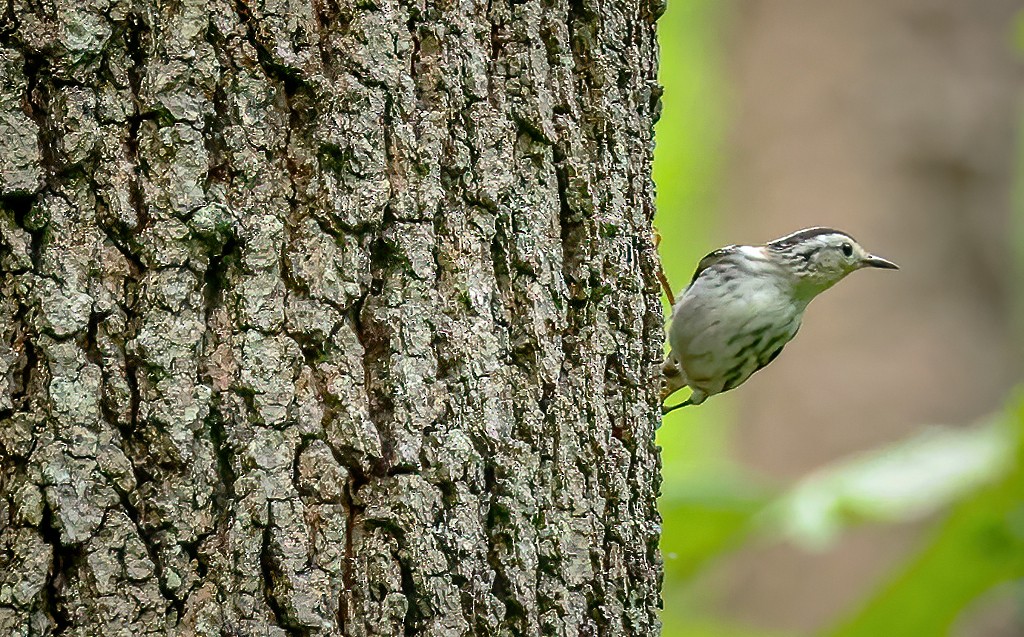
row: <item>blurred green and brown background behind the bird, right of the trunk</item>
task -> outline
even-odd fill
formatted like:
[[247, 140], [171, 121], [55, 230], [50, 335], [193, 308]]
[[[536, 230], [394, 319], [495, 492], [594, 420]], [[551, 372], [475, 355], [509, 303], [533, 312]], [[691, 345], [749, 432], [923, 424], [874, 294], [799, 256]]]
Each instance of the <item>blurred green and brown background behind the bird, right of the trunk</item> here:
[[1024, 636], [1024, 3], [670, 0], [658, 31], [677, 292], [809, 225], [902, 266], [666, 417], [665, 636]]

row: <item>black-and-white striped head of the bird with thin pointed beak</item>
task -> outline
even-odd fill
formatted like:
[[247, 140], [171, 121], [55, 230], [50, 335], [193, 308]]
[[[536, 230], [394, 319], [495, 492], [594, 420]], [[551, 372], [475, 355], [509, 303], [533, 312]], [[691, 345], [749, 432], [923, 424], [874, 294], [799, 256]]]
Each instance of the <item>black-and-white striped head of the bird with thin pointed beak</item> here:
[[798, 294], [808, 300], [862, 267], [899, 269], [874, 256], [852, 237], [828, 227], [810, 227], [769, 243], [767, 251], [779, 258], [795, 278]]

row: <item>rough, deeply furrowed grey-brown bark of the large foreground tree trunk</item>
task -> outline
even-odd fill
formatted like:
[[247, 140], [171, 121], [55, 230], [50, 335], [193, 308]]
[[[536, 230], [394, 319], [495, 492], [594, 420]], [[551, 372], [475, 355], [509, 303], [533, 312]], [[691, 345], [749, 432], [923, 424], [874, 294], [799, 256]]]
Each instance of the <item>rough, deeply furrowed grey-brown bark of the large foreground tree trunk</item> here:
[[7, 4], [0, 634], [655, 634], [660, 9]]

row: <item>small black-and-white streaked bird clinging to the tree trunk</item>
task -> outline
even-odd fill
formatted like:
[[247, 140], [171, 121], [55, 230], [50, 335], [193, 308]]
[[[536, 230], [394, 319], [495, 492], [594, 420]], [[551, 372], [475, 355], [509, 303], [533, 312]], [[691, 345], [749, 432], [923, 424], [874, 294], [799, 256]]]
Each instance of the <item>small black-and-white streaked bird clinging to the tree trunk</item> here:
[[[805, 228], [761, 246], [726, 246], [700, 259], [672, 309], [662, 413], [743, 384], [793, 340], [811, 300], [864, 267], [899, 269], [830, 227]], [[666, 406], [683, 387], [690, 396]]]

